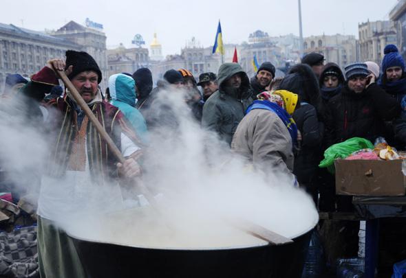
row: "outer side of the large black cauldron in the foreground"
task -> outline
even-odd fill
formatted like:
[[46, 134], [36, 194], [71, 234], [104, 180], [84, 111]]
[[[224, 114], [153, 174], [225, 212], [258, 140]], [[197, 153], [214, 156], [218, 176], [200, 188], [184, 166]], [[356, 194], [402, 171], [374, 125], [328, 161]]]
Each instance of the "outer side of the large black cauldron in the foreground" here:
[[138, 248], [71, 238], [92, 278], [301, 277], [309, 231], [292, 244], [212, 250]]

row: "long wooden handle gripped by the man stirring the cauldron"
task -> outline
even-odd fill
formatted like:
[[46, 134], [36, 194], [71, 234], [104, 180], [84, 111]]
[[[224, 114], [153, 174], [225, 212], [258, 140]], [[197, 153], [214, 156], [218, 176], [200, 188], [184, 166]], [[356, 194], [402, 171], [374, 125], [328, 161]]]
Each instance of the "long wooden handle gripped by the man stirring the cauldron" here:
[[[90, 121], [92, 121], [92, 124], [94, 125], [94, 127], [96, 128], [96, 130], [98, 131], [100, 136], [103, 138], [103, 140], [106, 141], [107, 146], [109, 146], [109, 149], [111, 150], [111, 152], [113, 152], [116, 159], [120, 163], [124, 163], [125, 157], [121, 154], [120, 150], [118, 150], [116, 144], [111, 139], [111, 137], [108, 135], [106, 130], [103, 128], [103, 126], [100, 124], [100, 121], [98, 121], [96, 116], [92, 113], [89, 106], [87, 106], [87, 103], [85, 102], [85, 100], [83, 100], [83, 97], [81, 96], [81, 94], [78, 93], [78, 90], [76, 90], [75, 86], [72, 84], [72, 82], [69, 80], [69, 78], [67, 78], [65, 71], [56, 71], [56, 73], [58, 73], [58, 76], [62, 79], [62, 81], [65, 84], [65, 86], [67, 87], [67, 89], [69, 89], [70, 94], [72, 95], [72, 97], [74, 98], [76, 103], [79, 106], [81, 106], [81, 108], [85, 112], [86, 116], [89, 118]], [[140, 189], [140, 192], [145, 196], [145, 198], [147, 199], [149, 204], [156, 209], [158, 207], [158, 204], [157, 204], [155, 198], [153, 198], [153, 195], [151, 194], [149, 189], [147, 187], [145, 187], [145, 185], [142, 183], [140, 178], [134, 178], [134, 182]]]

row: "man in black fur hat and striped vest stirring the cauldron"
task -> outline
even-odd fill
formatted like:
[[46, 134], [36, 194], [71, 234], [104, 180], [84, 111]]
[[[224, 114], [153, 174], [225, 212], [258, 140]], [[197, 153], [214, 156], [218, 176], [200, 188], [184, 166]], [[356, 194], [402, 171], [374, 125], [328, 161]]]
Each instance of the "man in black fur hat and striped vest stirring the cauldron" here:
[[[32, 76], [24, 93], [35, 100], [43, 100], [52, 86], [58, 84], [55, 70], [65, 70], [76, 90], [83, 97], [107, 134], [126, 158], [117, 163], [107, 143], [103, 140], [81, 107], [65, 91], [45, 104], [45, 126], [50, 130], [50, 159], [41, 178], [38, 204], [38, 251], [41, 278], [85, 277], [83, 266], [74, 244], [65, 231], [56, 227], [73, 211], [73, 201], [89, 198], [85, 188], [97, 187], [119, 177], [140, 175], [136, 162], [140, 148], [136, 135], [127, 125], [118, 108], [103, 100], [98, 88], [102, 73], [92, 56], [86, 52], [68, 50], [66, 62], [53, 59]], [[47, 118], [47, 119], [46, 119]], [[136, 143], [134, 143], [136, 142]], [[137, 146], [138, 145], [138, 146]], [[66, 217], [66, 218], [65, 218]]]

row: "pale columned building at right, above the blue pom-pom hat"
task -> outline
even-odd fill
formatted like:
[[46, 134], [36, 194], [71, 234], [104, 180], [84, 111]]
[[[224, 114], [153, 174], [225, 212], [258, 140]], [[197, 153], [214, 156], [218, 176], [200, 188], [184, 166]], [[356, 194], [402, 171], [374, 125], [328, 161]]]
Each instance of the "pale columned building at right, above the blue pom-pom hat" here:
[[393, 21], [367, 21], [358, 25], [359, 58], [381, 65], [383, 49], [389, 43], [396, 44], [396, 27]]

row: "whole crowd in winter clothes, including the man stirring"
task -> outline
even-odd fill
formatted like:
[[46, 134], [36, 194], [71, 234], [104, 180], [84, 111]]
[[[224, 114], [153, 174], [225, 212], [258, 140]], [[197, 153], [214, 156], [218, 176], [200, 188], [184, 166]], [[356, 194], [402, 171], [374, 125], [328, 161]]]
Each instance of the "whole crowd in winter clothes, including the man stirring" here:
[[[60, 86], [56, 71], [65, 71], [125, 163], [117, 163], [83, 108]], [[381, 67], [365, 61], [342, 71], [311, 53], [284, 78], [275, 78], [271, 62], [251, 78], [237, 63], [224, 63], [217, 74], [202, 73], [197, 80], [187, 69], [170, 69], [155, 88], [147, 68], [109, 76], [104, 92], [98, 86], [102, 78], [94, 58], [78, 51], [67, 51], [65, 60], [49, 60], [30, 79], [18, 73], [6, 78], [1, 102], [23, 97], [28, 121], [52, 134], [38, 201], [41, 277], [85, 277], [72, 242], [53, 224], [56, 214], [64, 213], [54, 207], [69, 207], [61, 205], [67, 200], [54, 187], [70, 192], [72, 184], [85, 180], [140, 176], [151, 132], [178, 125], [177, 111], [164, 93], [182, 91], [193, 121], [258, 171], [288, 176], [320, 211], [352, 209], [351, 200], [335, 196], [334, 176], [318, 167], [326, 148], [352, 137], [372, 142], [385, 137], [400, 150], [406, 146], [405, 61], [395, 45], [385, 47]]]

